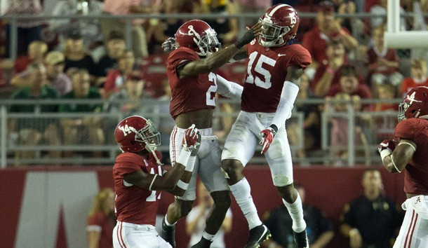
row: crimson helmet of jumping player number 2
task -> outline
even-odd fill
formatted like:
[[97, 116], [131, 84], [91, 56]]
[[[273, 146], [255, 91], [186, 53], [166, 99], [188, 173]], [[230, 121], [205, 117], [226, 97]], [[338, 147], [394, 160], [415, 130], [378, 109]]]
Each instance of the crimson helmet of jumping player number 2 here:
[[189, 20], [175, 33], [179, 47], [190, 48], [199, 56], [205, 57], [221, 48], [217, 33], [202, 20]]

